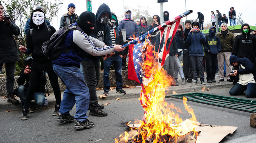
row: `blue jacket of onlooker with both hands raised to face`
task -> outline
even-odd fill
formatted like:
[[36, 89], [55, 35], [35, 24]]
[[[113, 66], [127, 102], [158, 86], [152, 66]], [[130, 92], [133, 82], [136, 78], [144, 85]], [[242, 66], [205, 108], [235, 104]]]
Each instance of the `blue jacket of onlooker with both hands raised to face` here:
[[203, 43], [205, 41], [203, 32], [189, 32], [187, 37], [187, 43], [190, 44], [189, 56], [204, 56]]

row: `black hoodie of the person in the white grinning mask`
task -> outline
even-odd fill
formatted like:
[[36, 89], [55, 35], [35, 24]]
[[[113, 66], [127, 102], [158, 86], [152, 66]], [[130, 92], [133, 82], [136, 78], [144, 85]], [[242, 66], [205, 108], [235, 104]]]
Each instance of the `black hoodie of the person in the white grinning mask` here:
[[[44, 15], [45, 13], [40, 10], [36, 9], [32, 12], [31, 14], [31, 20], [33, 13], [35, 11], [40, 11]], [[31, 22], [31, 26], [33, 27], [32, 30], [32, 35], [30, 35], [30, 31], [27, 33], [27, 52], [26, 54], [31, 54], [33, 57], [33, 62], [32, 62], [32, 69], [31, 70], [36, 70], [36, 71], [50, 71], [52, 69], [52, 59], [47, 59], [45, 55], [43, 55], [42, 52], [40, 52], [43, 42], [47, 41], [50, 39], [52, 34], [56, 31], [55, 28], [52, 26], [47, 26], [45, 25], [45, 22], [43, 24], [37, 26], [34, 24], [34, 22]]]

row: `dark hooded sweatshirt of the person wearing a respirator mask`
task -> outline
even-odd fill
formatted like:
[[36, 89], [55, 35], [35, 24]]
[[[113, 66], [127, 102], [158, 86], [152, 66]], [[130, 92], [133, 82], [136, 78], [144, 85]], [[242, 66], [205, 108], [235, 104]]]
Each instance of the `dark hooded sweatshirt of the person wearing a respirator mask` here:
[[[97, 13], [96, 13], [96, 23], [95, 27], [91, 32], [91, 36], [93, 38], [98, 39], [101, 42], [104, 42], [107, 46], [112, 46], [112, 40], [110, 36], [110, 28], [108, 24], [102, 24], [101, 21], [101, 15], [104, 13], [109, 14], [109, 19], [111, 20], [111, 11], [108, 5], [101, 4], [99, 6]], [[99, 59], [101, 59], [102, 56], [92, 56], [89, 53], [86, 53], [85, 57], [83, 58], [83, 61], [93, 61], [93, 62], [99, 62]]]

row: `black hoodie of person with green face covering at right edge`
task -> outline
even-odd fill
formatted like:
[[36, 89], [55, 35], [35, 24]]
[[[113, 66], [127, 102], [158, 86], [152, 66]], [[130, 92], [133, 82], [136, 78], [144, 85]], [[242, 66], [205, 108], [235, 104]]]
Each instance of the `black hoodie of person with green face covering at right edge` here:
[[[249, 32], [247, 34], [243, 32], [243, 27], [245, 25], [249, 27]], [[243, 24], [241, 31], [242, 34], [236, 36], [234, 41], [232, 55], [238, 56], [239, 58], [247, 57], [252, 63], [256, 63], [256, 38], [250, 34], [249, 24]]]

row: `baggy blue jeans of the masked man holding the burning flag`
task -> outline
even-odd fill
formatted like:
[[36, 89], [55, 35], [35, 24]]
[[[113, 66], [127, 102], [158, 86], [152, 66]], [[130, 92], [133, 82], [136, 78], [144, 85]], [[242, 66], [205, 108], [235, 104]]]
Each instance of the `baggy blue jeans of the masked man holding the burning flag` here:
[[90, 95], [83, 74], [76, 66], [65, 67], [53, 64], [53, 70], [66, 85], [59, 112], [61, 114], [69, 114], [69, 111], [76, 104], [75, 119], [81, 122], [85, 121], [87, 119], [86, 112], [89, 107]]

